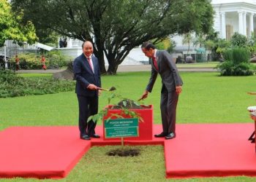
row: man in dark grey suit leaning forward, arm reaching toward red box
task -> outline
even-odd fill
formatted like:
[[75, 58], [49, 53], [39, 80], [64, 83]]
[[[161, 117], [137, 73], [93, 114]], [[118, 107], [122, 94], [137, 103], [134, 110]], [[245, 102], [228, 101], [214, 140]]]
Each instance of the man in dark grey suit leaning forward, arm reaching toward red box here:
[[162, 132], [154, 136], [157, 138], [165, 137], [165, 139], [175, 138], [176, 106], [178, 95], [181, 93], [181, 85], [183, 84], [181, 76], [179, 76], [176, 64], [168, 52], [157, 50], [151, 42], [143, 43], [141, 49], [148, 58], [151, 58], [151, 77], [141, 98], [148, 97], [148, 92], [152, 91], [157, 74], [162, 78], [160, 103]]

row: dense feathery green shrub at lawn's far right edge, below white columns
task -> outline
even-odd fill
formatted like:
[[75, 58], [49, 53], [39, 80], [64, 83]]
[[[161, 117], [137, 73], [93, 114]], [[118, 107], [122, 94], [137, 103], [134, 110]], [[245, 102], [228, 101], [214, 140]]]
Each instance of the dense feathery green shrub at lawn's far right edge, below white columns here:
[[249, 76], [255, 68], [249, 63], [249, 50], [236, 47], [223, 52], [224, 63], [217, 66], [222, 76]]

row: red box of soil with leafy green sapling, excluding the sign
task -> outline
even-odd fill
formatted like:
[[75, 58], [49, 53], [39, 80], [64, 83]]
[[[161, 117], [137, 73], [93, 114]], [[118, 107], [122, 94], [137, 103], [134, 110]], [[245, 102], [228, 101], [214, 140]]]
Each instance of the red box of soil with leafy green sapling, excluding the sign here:
[[[126, 137], [125, 141], [151, 141], [153, 136], [153, 106], [143, 105], [142, 103], [132, 100], [129, 98], [124, 98], [118, 95], [116, 92], [109, 92], [108, 95], [108, 106], [105, 106], [98, 114], [90, 116], [89, 120], [94, 122], [103, 122], [103, 140], [106, 141], [116, 141], [121, 140], [121, 138], [108, 138], [105, 133], [105, 123], [110, 119], [120, 119], [120, 118], [138, 118], [138, 137]], [[113, 98], [118, 98], [119, 102], [117, 104], [111, 104]]]

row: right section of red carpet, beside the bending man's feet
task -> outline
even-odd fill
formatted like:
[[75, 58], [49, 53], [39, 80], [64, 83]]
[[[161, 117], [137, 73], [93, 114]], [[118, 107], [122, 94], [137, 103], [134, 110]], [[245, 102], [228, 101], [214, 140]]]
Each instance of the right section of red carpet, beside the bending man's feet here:
[[165, 141], [167, 178], [256, 176], [254, 124], [181, 124]]

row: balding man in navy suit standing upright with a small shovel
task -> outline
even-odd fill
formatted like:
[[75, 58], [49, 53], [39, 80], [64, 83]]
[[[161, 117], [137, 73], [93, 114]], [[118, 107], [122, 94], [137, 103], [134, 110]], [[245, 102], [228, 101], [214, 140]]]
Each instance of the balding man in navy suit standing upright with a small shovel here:
[[92, 120], [87, 122], [87, 119], [98, 112], [98, 87], [101, 87], [101, 81], [98, 59], [93, 55], [91, 41], [83, 42], [82, 48], [83, 54], [75, 58], [73, 70], [77, 81], [75, 92], [79, 105], [80, 138], [90, 140], [99, 138], [94, 130], [97, 123]]

